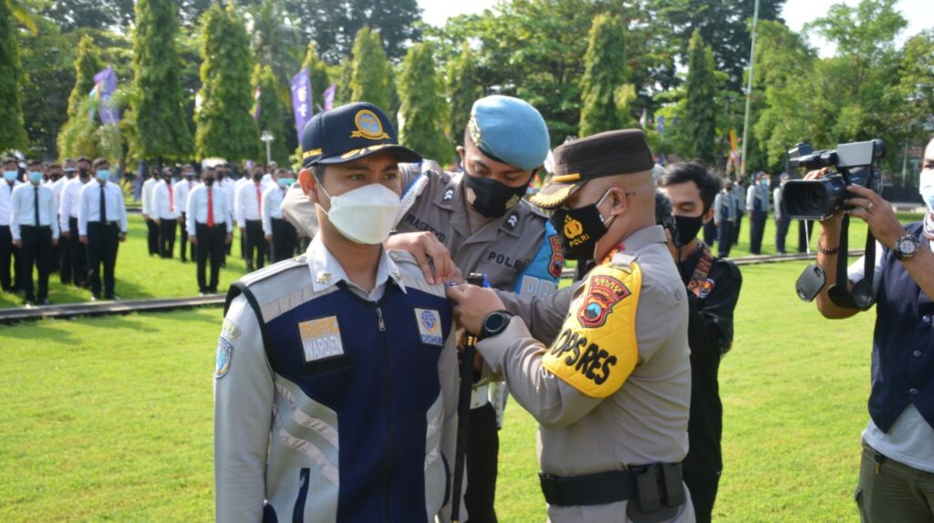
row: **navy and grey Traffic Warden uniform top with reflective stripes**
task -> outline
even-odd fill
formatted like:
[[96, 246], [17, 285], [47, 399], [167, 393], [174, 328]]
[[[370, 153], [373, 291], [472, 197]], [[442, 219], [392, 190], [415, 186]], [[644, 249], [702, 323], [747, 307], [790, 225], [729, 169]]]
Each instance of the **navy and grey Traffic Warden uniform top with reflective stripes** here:
[[255, 308], [233, 298], [215, 370], [218, 521], [260, 521], [264, 500], [279, 521], [449, 519], [458, 375], [444, 288], [384, 251], [366, 292], [318, 238], [241, 282]]

